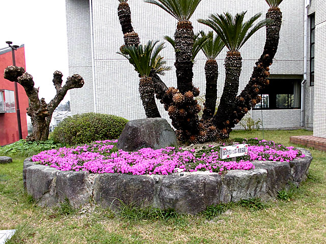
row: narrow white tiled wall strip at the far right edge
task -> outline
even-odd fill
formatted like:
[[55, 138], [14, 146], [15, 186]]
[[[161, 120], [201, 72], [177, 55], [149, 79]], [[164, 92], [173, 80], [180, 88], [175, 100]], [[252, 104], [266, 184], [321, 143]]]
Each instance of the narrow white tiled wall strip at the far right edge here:
[[314, 136], [326, 138], [326, 2], [315, 0]]

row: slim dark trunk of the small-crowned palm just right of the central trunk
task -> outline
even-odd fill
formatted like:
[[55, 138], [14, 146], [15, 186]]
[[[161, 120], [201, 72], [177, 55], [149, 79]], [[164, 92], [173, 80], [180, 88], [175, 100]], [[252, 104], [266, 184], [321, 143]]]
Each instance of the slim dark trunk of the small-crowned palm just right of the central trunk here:
[[205, 64], [206, 94], [203, 120], [213, 117], [215, 113], [216, 99], [218, 99], [219, 66], [215, 59], [208, 59]]

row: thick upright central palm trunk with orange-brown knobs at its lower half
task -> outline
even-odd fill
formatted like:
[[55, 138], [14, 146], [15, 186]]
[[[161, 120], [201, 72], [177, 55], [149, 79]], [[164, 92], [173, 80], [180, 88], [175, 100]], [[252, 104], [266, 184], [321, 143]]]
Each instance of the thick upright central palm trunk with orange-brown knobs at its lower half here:
[[198, 142], [200, 134], [198, 112], [200, 106], [194, 97], [199, 95], [199, 89], [193, 85], [193, 45], [194, 32], [190, 21], [179, 21], [174, 35], [175, 39], [175, 67], [177, 88], [167, 91], [171, 101], [168, 108], [179, 141]]

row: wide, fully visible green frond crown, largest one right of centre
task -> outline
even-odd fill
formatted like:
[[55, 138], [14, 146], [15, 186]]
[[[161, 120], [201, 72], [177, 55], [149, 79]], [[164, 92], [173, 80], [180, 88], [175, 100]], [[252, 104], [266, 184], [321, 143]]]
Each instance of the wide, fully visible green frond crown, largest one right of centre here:
[[258, 29], [270, 22], [270, 20], [265, 19], [253, 26], [261, 14], [256, 14], [248, 21], [243, 22], [246, 13], [247, 11], [236, 14], [234, 17], [230, 13], [212, 14], [209, 19], [199, 19], [198, 22], [211, 27], [230, 51], [239, 51]]

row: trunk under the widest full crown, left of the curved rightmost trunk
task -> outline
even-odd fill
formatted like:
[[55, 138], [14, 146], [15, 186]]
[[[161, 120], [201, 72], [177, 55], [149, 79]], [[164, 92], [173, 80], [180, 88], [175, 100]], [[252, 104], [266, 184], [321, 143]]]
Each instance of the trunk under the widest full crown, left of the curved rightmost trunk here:
[[224, 138], [226, 128], [230, 121], [230, 113], [233, 111], [234, 101], [238, 93], [239, 77], [241, 74], [242, 58], [238, 51], [228, 51], [225, 58], [225, 83], [220, 105], [216, 115], [213, 116], [212, 123], [221, 131], [220, 137]]

